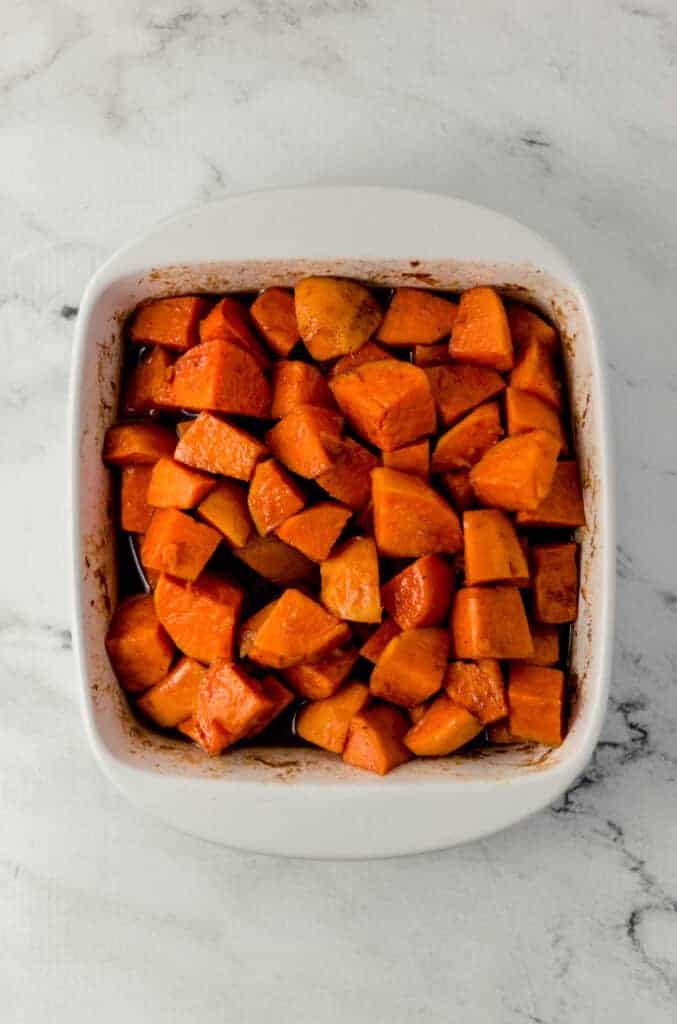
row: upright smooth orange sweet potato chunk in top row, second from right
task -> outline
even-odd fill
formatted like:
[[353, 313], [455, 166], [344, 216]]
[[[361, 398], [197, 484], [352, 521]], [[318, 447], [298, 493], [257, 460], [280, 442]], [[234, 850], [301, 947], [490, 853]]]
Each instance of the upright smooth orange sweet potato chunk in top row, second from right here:
[[463, 293], [450, 351], [462, 362], [493, 367], [501, 372], [511, 369], [508, 317], [501, 296], [493, 288], [471, 288]]

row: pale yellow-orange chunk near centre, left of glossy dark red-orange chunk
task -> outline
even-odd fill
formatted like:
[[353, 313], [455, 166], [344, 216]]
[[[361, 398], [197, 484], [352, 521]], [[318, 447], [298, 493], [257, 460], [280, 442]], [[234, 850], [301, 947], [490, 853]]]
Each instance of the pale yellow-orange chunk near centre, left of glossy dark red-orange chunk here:
[[322, 603], [337, 618], [381, 622], [381, 591], [376, 545], [371, 537], [341, 544], [320, 566]]

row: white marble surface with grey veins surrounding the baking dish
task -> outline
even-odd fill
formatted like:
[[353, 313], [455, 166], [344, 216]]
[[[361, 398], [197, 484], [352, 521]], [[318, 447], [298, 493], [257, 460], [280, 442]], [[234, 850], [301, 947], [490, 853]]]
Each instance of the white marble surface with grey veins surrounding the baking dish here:
[[[7, 1024], [677, 1015], [677, 15], [670, 0], [25, 0], [0, 12], [0, 992]], [[449, 191], [579, 264], [619, 456], [612, 699], [552, 810], [400, 861], [175, 835], [87, 750], [67, 594], [73, 315], [178, 209]]]

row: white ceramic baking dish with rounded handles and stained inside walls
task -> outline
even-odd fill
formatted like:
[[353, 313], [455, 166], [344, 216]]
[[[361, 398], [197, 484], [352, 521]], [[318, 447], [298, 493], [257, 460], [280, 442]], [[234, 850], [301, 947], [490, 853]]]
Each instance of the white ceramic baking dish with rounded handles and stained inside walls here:
[[[558, 750], [517, 746], [417, 760], [379, 778], [306, 748], [209, 759], [147, 731], [113, 675], [103, 638], [116, 601], [110, 472], [125, 315], [141, 299], [293, 285], [307, 273], [462, 291], [494, 285], [559, 327], [585, 490], [576, 687]], [[559, 796], [588, 762], [611, 650], [613, 519], [609, 427], [597, 331], [568, 262], [531, 230], [460, 200], [390, 188], [237, 196], [162, 224], [94, 275], [77, 322], [71, 387], [74, 644], [94, 754], [113, 782], [167, 822], [227, 846], [308, 857], [379, 857], [463, 843]]]

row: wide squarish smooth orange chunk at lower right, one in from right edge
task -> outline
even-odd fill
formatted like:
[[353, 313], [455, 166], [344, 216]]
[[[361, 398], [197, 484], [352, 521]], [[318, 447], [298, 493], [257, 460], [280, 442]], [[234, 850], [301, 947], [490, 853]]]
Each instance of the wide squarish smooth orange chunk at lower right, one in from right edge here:
[[452, 605], [458, 658], [531, 657], [534, 644], [516, 587], [462, 587]]

